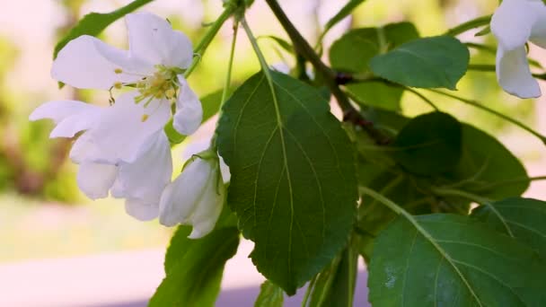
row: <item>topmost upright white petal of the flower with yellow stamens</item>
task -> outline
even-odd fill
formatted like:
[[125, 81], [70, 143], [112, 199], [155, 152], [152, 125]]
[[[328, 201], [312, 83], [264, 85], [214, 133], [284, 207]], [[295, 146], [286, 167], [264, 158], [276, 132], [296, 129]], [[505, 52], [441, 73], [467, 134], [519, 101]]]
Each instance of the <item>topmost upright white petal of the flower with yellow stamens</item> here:
[[152, 13], [130, 13], [128, 27], [131, 57], [145, 59], [154, 65], [187, 68], [193, 58], [191, 41], [181, 31]]

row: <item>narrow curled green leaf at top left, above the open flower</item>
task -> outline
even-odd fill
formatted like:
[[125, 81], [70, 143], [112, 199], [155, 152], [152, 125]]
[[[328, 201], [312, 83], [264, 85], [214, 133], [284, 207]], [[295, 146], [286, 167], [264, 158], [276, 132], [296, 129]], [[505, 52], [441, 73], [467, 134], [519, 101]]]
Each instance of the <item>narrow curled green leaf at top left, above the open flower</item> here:
[[135, 0], [130, 4], [120, 7], [116, 11], [110, 13], [88, 13], [82, 18], [78, 24], [72, 28], [66, 36], [57, 42], [57, 46], [53, 51], [53, 58], [57, 58], [58, 52], [66, 46], [66, 44], [82, 35], [97, 36], [106, 29], [111, 23], [119, 20], [119, 18], [131, 13], [137, 8], [149, 4], [154, 0]]

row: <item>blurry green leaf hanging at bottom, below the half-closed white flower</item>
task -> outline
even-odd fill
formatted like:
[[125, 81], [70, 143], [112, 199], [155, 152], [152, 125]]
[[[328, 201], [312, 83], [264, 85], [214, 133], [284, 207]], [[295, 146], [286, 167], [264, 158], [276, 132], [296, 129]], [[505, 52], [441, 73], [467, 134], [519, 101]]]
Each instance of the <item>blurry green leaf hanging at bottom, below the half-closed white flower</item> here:
[[199, 240], [188, 239], [191, 227], [180, 226], [165, 256], [166, 277], [150, 307], [214, 306], [225, 262], [239, 246], [236, 227], [219, 228]]

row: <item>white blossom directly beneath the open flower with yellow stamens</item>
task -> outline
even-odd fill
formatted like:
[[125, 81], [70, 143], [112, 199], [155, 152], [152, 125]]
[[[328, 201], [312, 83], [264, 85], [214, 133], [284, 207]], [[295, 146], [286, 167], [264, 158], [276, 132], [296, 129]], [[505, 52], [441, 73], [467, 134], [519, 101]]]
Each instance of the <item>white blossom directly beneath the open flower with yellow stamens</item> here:
[[[163, 132], [169, 106], [134, 103], [137, 92], [121, 95], [114, 106], [101, 108], [81, 101], [49, 101], [31, 113], [31, 120], [53, 119], [51, 137], [77, 138], [70, 158], [80, 165], [78, 187], [92, 199], [126, 198], [126, 210], [140, 220], [158, 215], [159, 199], [171, 181], [171, 147]], [[143, 120], [145, 118], [145, 120]]]

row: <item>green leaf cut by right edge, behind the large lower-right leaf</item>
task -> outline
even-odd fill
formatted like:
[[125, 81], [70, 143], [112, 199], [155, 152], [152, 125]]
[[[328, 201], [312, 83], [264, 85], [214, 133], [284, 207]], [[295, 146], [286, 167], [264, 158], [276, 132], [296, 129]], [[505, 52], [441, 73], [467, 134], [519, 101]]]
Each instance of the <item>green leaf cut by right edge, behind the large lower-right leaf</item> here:
[[546, 259], [546, 203], [542, 200], [507, 198], [490, 206], [479, 206], [471, 216], [499, 232], [513, 235]]

